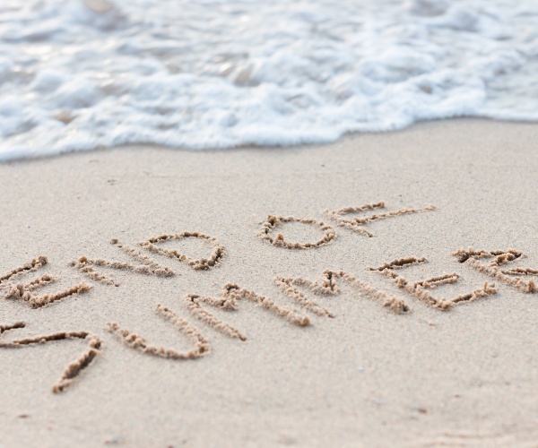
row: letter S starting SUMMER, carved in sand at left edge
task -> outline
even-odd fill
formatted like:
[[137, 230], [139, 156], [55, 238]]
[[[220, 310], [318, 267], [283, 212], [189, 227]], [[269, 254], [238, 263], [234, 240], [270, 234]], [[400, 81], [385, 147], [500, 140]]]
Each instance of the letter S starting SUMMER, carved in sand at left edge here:
[[[13, 323], [11, 325], [0, 325], [0, 337], [4, 332], [24, 327], [26, 327], [26, 323], [23, 322]], [[84, 350], [79, 358], [76, 358], [65, 367], [62, 376], [52, 387], [52, 392], [58, 393], [65, 391], [67, 387], [74, 383], [76, 378], [81, 375], [82, 370], [90, 366], [93, 359], [97, 357], [102, 345], [101, 340], [97, 336], [92, 335], [89, 332], [56, 332], [54, 334], [12, 340], [9, 342], [0, 339], [0, 349], [22, 349], [31, 347], [35, 344], [46, 344], [56, 340], [88, 340], [87, 349]]]

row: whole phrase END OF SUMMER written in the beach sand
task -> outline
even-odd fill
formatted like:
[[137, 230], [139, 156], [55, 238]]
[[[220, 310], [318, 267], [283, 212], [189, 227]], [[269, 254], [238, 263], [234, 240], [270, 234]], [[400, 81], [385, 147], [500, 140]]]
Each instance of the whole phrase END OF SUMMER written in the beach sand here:
[[[372, 223], [377, 220], [388, 220], [404, 215], [421, 214], [435, 211], [435, 207], [429, 205], [421, 209], [402, 209], [398, 211], [386, 211], [384, 202], [369, 203], [360, 207], [346, 207], [340, 210], [325, 211], [325, 217], [335, 228], [351, 231], [359, 237], [375, 237], [371, 231]], [[359, 216], [357, 216], [359, 215]], [[322, 237], [317, 241], [298, 243], [287, 240], [279, 231], [287, 222], [297, 222], [305, 226], [319, 229]], [[278, 250], [316, 250], [320, 246], [332, 244], [337, 232], [333, 226], [321, 220], [298, 219], [268, 215], [261, 223], [257, 236], [266, 244], [278, 247]], [[178, 250], [165, 248], [162, 243], [185, 238], [197, 238], [204, 242], [209, 249], [209, 254], [204, 257], [192, 259]], [[126, 255], [129, 262], [109, 261], [105, 259], [91, 259], [80, 256], [71, 263], [74, 270], [82, 273], [86, 279], [69, 288], [51, 294], [39, 294], [39, 289], [55, 283], [58, 276], [51, 274], [39, 275], [34, 279], [28, 279], [33, 272], [39, 272], [48, 264], [48, 257], [41, 255], [30, 263], [8, 271], [0, 276], [0, 297], [4, 300], [20, 302], [23, 306], [38, 309], [43, 306], [58, 306], [58, 302], [69, 300], [76, 295], [89, 294], [93, 289], [105, 287], [119, 287], [119, 283], [111, 272], [115, 270], [129, 271], [137, 275], [156, 276], [171, 279], [176, 272], [153, 259], [150, 254], [164, 256], [186, 263], [194, 271], [211, 271], [217, 268], [226, 259], [226, 247], [215, 237], [204, 235], [200, 232], [182, 232], [174, 235], [161, 235], [151, 237], [142, 243], [131, 247], [121, 244], [113, 239], [111, 244]], [[219, 297], [204, 297], [195, 294], [195, 291], [187, 291], [181, 300], [181, 309], [172, 310], [167, 306], [158, 304], [156, 313], [161, 322], [168, 322], [189, 341], [190, 349], [179, 351], [173, 348], [157, 347], [148, 342], [142, 335], [131, 332], [121, 326], [120, 323], [108, 323], [107, 330], [117, 336], [127, 348], [137, 350], [143, 354], [167, 358], [173, 360], [188, 360], [204, 358], [211, 353], [210, 341], [198, 328], [209, 326], [224, 337], [235, 340], [247, 340], [247, 335], [239, 328], [226, 323], [213, 314], [213, 309], [236, 312], [242, 302], [253, 302], [273, 314], [276, 318], [283, 319], [298, 328], [310, 324], [308, 314], [316, 314], [323, 318], [333, 319], [334, 313], [317, 303], [316, 297], [335, 296], [340, 294], [341, 285], [346, 284], [351, 290], [356, 291], [360, 297], [365, 297], [386, 307], [389, 312], [396, 314], [408, 314], [411, 307], [406, 298], [419, 299], [428, 306], [440, 311], [447, 311], [454, 306], [474, 300], [490, 297], [497, 293], [495, 284], [490, 280], [498, 280], [508, 288], [517, 289], [524, 293], [535, 293], [538, 287], [534, 277], [538, 276], [537, 269], [526, 267], [513, 267], [510, 264], [525, 258], [525, 254], [515, 249], [504, 250], [475, 250], [472, 247], [458, 249], [453, 254], [456, 261], [464, 266], [478, 271], [484, 276], [482, 285], [475, 289], [464, 291], [456, 297], [443, 297], [438, 294], [439, 287], [455, 284], [461, 280], [461, 275], [456, 272], [440, 273], [423, 280], [408, 280], [405, 277], [406, 268], [417, 264], [427, 263], [424, 257], [404, 256], [390, 260], [379, 266], [364, 266], [364, 269], [379, 273], [381, 276], [395, 283], [401, 295], [388, 293], [377, 289], [366, 280], [362, 280], [357, 273], [347, 271], [325, 270], [317, 279], [303, 277], [276, 276], [273, 279], [278, 292], [286, 297], [291, 306], [278, 305], [271, 297], [257, 293], [253, 289], [244, 288], [228, 282], [223, 285]], [[510, 267], [512, 266], [512, 267]], [[189, 317], [185, 317], [188, 315]], [[197, 324], [196, 324], [197, 323]], [[26, 337], [21, 339], [6, 340], [4, 333], [14, 334], [27, 326], [25, 322], [0, 323], [0, 349], [27, 349], [36, 344], [63, 343], [71, 340], [84, 340], [86, 347], [82, 354], [73, 362], [69, 363], [58, 381], [53, 385], [53, 392], [64, 392], [73, 384], [82, 372], [87, 370], [100, 355], [103, 342], [99, 335], [86, 332], [83, 329], [72, 331], [58, 331], [52, 334]]]

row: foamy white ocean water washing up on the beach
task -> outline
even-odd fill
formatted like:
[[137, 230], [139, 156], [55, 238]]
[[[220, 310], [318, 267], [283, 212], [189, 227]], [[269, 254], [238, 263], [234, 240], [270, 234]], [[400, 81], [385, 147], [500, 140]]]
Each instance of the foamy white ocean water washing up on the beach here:
[[538, 121], [538, 0], [2, 0], [0, 160]]

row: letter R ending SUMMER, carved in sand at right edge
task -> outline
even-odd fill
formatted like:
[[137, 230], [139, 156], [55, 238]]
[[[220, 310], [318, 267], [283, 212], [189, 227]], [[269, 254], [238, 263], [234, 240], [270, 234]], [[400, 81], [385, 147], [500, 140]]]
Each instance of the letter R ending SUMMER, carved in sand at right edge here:
[[[465, 263], [476, 271], [489, 275], [493, 279], [500, 280], [512, 288], [525, 293], [538, 291], [538, 285], [534, 279], [525, 280], [522, 277], [538, 276], [538, 270], [531, 268], [502, 270], [500, 268], [500, 266], [525, 258], [523, 252], [514, 249], [508, 249], [506, 251], [484, 251], [474, 250], [473, 247], [469, 247], [468, 249], [459, 249], [453, 255], [456, 256], [459, 263]], [[481, 259], [490, 259], [490, 263], [480, 263], [479, 260]]]

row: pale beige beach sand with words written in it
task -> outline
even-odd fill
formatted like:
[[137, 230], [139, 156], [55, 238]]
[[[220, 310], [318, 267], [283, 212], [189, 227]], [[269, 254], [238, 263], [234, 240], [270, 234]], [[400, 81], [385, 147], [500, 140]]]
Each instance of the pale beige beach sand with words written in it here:
[[0, 446], [538, 446], [537, 141], [0, 165]]

